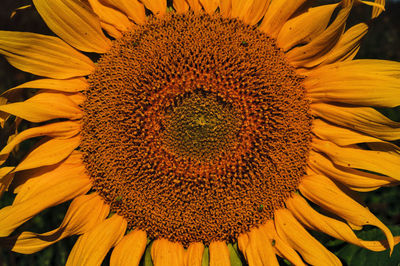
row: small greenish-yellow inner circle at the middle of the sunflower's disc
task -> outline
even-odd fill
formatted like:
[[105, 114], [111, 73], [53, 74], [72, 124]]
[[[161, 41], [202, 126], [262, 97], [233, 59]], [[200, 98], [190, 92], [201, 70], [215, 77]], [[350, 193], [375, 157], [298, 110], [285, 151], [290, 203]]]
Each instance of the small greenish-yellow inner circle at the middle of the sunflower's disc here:
[[160, 121], [165, 146], [178, 156], [212, 160], [237, 142], [240, 119], [236, 111], [211, 96], [184, 97], [166, 110]]

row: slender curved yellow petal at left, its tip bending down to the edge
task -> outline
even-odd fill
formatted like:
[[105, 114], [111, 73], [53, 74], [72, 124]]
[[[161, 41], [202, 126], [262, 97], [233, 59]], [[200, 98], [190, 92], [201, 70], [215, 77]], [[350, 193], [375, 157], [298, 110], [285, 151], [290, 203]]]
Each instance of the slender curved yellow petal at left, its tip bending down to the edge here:
[[65, 121], [44, 125], [41, 127], [33, 127], [22, 131], [15, 138], [13, 138], [4, 148], [0, 151], [0, 164], [4, 163], [8, 154], [22, 141], [40, 137], [49, 136], [58, 139], [68, 139], [77, 135], [80, 131], [80, 123], [74, 121]]

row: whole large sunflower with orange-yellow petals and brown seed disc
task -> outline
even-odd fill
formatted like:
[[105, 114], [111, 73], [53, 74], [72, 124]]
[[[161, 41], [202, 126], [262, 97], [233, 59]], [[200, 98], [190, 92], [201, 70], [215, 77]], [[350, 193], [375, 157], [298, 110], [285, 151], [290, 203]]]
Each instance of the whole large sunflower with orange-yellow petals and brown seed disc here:
[[[249, 265], [341, 265], [315, 230], [393, 250], [355, 193], [400, 180], [400, 123], [375, 109], [400, 104], [400, 64], [353, 60], [383, 0], [33, 4], [58, 37], [0, 31], [8, 62], [44, 77], [0, 98], [15, 131], [0, 193], [16, 193], [1, 246], [30, 254], [79, 235], [67, 265], [111, 249], [111, 265], [223, 266], [238, 250]], [[358, 6], [371, 18], [347, 27]], [[12, 234], [70, 200], [58, 228]], [[386, 240], [359, 239], [365, 225]]]

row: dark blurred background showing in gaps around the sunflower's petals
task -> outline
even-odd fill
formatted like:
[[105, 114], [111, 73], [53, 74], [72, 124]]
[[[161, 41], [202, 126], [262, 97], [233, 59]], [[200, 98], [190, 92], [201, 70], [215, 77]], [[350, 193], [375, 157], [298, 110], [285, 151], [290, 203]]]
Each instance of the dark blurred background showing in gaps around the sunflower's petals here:
[[[10, 18], [11, 13], [18, 7], [31, 4], [30, 0], [0, 0], [0, 30], [26, 31], [53, 35], [44, 24], [33, 7], [17, 11]], [[400, 61], [400, 2], [389, 1], [384, 12], [371, 25], [357, 58], [375, 58]], [[368, 16], [370, 9], [356, 9], [353, 18]], [[350, 20], [349, 24], [355, 23]], [[19, 71], [10, 66], [0, 56], [0, 93], [13, 86], [32, 80], [33, 75]], [[400, 93], [399, 93], [400, 95]], [[400, 109], [386, 110], [393, 120], [400, 121]], [[29, 149], [31, 144], [25, 143], [21, 150]], [[394, 234], [400, 234], [400, 190], [398, 187], [381, 188], [370, 193], [362, 193], [370, 210], [387, 225], [391, 225]], [[5, 193], [0, 199], [0, 208], [12, 203], [12, 193]], [[61, 223], [68, 203], [43, 211], [40, 215], [25, 223], [18, 231], [29, 230], [38, 233], [50, 231]], [[360, 234], [365, 239], [375, 237], [375, 229], [366, 228], [367, 231]], [[357, 249], [352, 245], [346, 245], [341, 241], [335, 241], [329, 237], [316, 234], [331, 251], [337, 254], [346, 265], [400, 265], [399, 249], [396, 249], [391, 260], [381, 260], [382, 253], [371, 253]], [[64, 239], [49, 248], [32, 254], [21, 255], [0, 249], [0, 266], [3, 265], [64, 265], [76, 237]], [[387, 254], [385, 255], [387, 257]], [[284, 265], [285, 262], [281, 261]]]

